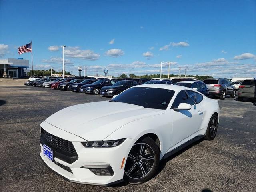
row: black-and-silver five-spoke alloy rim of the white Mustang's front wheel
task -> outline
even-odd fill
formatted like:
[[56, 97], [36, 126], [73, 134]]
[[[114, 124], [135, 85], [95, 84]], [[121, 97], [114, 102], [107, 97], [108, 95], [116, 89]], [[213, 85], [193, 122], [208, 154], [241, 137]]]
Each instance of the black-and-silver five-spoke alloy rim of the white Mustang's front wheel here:
[[152, 170], [154, 161], [154, 150], [146, 143], [136, 143], [128, 154], [124, 172], [132, 179], [143, 178]]

